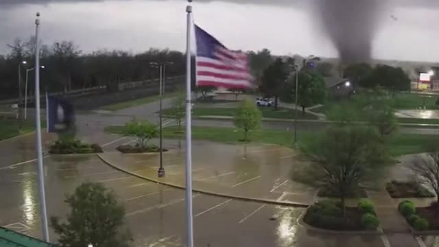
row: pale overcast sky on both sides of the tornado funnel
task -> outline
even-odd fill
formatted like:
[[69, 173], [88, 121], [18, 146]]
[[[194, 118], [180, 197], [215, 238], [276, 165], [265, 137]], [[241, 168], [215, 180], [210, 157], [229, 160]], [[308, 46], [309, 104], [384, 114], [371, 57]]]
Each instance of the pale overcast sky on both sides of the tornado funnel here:
[[[196, 1], [193, 17], [230, 49], [267, 47], [273, 54], [335, 57], [337, 51], [315, 18], [312, 1], [318, 0]], [[399, 1], [382, 10], [372, 55], [438, 61], [439, 8], [431, 4], [435, 1]], [[84, 52], [137, 52], [150, 47], [184, 51], [186, 4], [183, 0], [0, 0], [0, 54], [8, 52], [6, 44], [14, 38], [34, 33], [36, 12], [42, 14], [43, 43], [73, 40]]]

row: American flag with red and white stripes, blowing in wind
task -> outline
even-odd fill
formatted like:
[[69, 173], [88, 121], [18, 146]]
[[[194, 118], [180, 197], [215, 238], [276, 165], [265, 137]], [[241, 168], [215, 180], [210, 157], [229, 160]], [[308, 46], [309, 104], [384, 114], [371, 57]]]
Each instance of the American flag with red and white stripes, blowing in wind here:
[[198, 25], [195, 25], [195, 40], [197, 86], [216, 86], [226, 89], [253, 87], [247, 54], [227, 49]]

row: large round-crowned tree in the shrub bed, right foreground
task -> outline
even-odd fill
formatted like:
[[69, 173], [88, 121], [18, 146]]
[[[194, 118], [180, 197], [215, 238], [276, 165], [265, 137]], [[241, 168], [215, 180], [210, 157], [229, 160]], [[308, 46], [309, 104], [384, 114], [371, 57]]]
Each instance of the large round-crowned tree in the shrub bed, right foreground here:
[[389, 161], [388, 150], [378, 133], [364, 126], [329, 128], [305, 152], [312, 162], [293, 172], [293, 179], [318, 189], [337, 191], [343, 213], [348, 193], [359, 185], [376, 181]]

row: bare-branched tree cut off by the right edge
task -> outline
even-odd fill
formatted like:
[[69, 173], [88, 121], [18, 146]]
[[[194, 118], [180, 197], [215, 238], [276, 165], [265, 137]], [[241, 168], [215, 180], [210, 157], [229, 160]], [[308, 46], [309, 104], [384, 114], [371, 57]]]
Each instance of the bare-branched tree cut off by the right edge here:
[[439, 207], [439, 150], [417, 158], [409, 168], [418, 176], [420, 183], [433, 189]]

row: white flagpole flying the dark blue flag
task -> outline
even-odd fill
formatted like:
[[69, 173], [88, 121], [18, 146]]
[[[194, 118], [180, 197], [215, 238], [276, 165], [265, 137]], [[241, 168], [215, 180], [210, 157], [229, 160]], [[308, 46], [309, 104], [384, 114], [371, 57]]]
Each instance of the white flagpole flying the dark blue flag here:
[[41, 117], [40, 117], [40, 44], [38, 43], [38, 27], [40, 13], [36, 13], [35, 20], [35, 121], [36, 121], [36, 154], [38, 156], [38, 185], [40, 187], [40, 217], [43, 228], [43, 239], [49, 242], [49, 228], [47, 226], [46, 195], [44, 187], [43, 148], [41, 147]]

